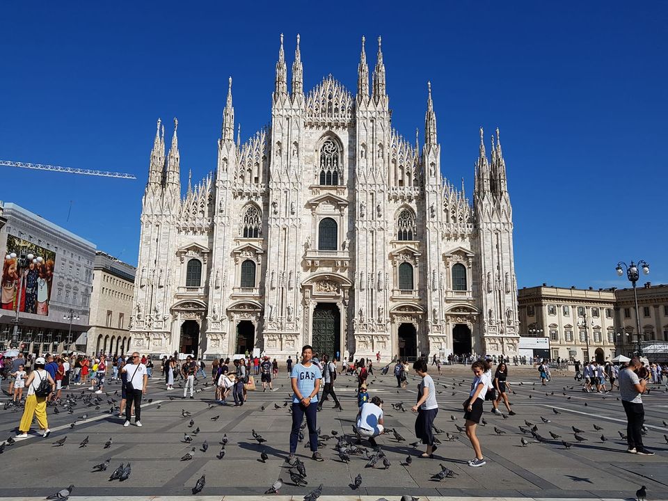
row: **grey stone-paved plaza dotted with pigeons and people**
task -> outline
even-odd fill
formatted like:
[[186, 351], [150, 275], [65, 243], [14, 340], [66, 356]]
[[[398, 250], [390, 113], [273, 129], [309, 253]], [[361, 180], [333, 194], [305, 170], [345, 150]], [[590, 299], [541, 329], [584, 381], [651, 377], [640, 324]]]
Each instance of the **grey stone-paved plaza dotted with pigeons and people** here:
[[[470, 370], [463, 366], [444, 367], [434, 379], [438, 388], [440, 410], [436, 427], [442, 444], [434, 459], [420, 459], [424, 450], [411, 445], [415, 441], [413, 426], [415, 415], [410, 407], [415, 402], [417, 378], [409, 379], [408, 389], [397, 390], [391, 372], [387, 376], [376, 374], [369, 381], [369, 393], [379, 395], [384, 401], [385, 426], [396, 429], [405, 442], [398, 442], [387, 434], [378, 442], [390, 459], [391, 466], [365, 468], [367, 459], [351, 456], [350, 463], [342, 462], [334, 450], [336, 438], [325, 440], [321, 448], [323, 463], [310, 459], [308, 449], [300, 443], [297, 454], [305, 463], [308, 486], [297, 487], [290, 481], [285, 461], [288, 449], [291, 417], [287, 406], [289, 380], [285, 371], [280, 375], [276, 392], [248, 392], [246, 405], [219, 406], [213, 401], [213, 391], [203, 388], [194, 400], [181, 399], [179, 390], [166, 391], [161, 380], [153, 379], [142, 406], [142, 428], [132, 425], [122, 427], [122, 420], [109, 413], [108, 399], [120, 400], [120, 384], [108, 385], [108, 391], [100, 409], [86, 407], [81, 400], [70, 414], [59, 408], [54, 414], [49, 407], [51, 436], [43, 439], [31, 436], [4, 448], [1, 459], [0, 498], [43, 499], [69, 484], [74, 484], [70, 499], [142, 500], [184, 499], [191, 496], [197, 479], [206, 475], [206, 486], [197, 497], [207, 500], [302, 500], [313, 488], [322, 484], [320, 500], [379, 500], [398, 501], [402, 495], [412, 495], [420, 500], [445, 499], [631, 499], [639, 486], [647, 488], [648, 499], [668, 499], [668, 394], [656, 386], [643, 397], [646, 411], [647, 433], [645, 445], [656, 452], [655, 456], [637, 456], [626, 453], [626, 442], [619, 431], [626, 433], [626, 419], [617, 397], [617, 390], [609, 395], [587, 394], [573, 381], [572, 374], [554, 374], [547, 387], [541, 387], [535, 369], [509, 367], [509, 382], [515, 395], [510, 395], [517, 415], [504, 419], [486, 412], [488, 424], [479, 427], [478, 436], [484, 456], [488, 461], [482, 468], [470, 468], [472, 449], [466, 435], [457, 430], [463, 427], [461, 403], [470, 388]], [[259, 385], [258, 385], [259, 386]], [[571, 389], [571, 386], [573, 387]], [[446, 388], [447, 387], [447, 388]], [[6, 389], [6, 386], [3, 386]], [[73, 387], [70, 394], [78, 395], [81, 387]], [[566, 388], [564, 390], [564, 388]], [[356, 383], [352, 378], [337, 379], [337, 395], [342, 400], [343, 411], [333, 410], [326, 402], [318, 414], [321, 434], [331, 436], [351, 434], [351, 424], [356, 416]], [[6, 398], [6, 397], [4, 397]], [[148, 401], [151, 399], [152, 401]], [[231, 399], [231, 397], [230, 397]], [[6, 400], [5, 400], [6, 401]], [[396, 411], [392, 404], [404, 402], [406, 412]], [[278, 408], [277, 408], [278, 407]], [[491, 404], [486, 403], [488, 411]], [[503, 407], [502, 407], [503, 408]], [[183, 417], [182, 410], [191, 417]], [[555, 413], [555, 411], [558, 412]], [[87, 415], [87, 417], [84, 417]], [[0, 410], [0, 437], [15, 435], [15, 427], [21, 411], [11, 408]], [[549, 420], [543, 422], [541, 417]], [[190, 420], [193, 427], [189, 427]], [[545, 438], [537, 442], [530, 434], [523, 434], [519, 427], [527, 427], [525, 420], [536, 424], [538, 434]], [[71, 427], [72, 423], [74, 427]], [[594, 425], [603, 430], [596, 431]], [[34, 425], [36, 428], [36, 424]], [[578, 443], [571, 427], [584, 432], [586, 441]], [[497, 434], [494, 428], [502, 434]], [[184, 432], [193, 436], [193, 443], [182, 440]], [[255, 429], [267, 439], [260, 445], [253, 438]], [[552, 439], [550, 431], [562, 438]], [[447, 440], [446, 433], [454, 436]], [[226, 434], [229, 442], [225, 455], [218, 459], [221, 438]], [[605, 441], [601, 435], [605, 436]], [[63, 446], [56, 440], [67, 437]], [[88, 437], [88, 445], [79, 447]], [[520, 438], [530, 444], [523, 446]], [[104, 449], [110, 440], [111, 447]], [[566, 449], [562, 439], [571, 443]], [[209, 449], [202, 452], [202, 443]], [[307, 439], [308, 441], [308, 439]], [[367, 445], [366, 442], [363, 443]], [[192, 447], [195, 452], [191, 452]], [[266, 463], [260, 460], [267, 452]], [[191, 452], [193, 459], [181, 461]], [[406, 456], [412, 455], [410, 465]], [[93, 472], [93, 466], [110, 459], [106, 472]], [[120, 463], [132, 463], [132, 475], [125, 482], [110, 482], [109, 475]], [[440, 471], [440, 463], [454, 470], [452, 478], [437, 482], [431, 479]], [[360, 473], [363, 482], [353, 489], [353, 479]], [[279, 495], [264, 497], [264, 491], [283, 479]]]

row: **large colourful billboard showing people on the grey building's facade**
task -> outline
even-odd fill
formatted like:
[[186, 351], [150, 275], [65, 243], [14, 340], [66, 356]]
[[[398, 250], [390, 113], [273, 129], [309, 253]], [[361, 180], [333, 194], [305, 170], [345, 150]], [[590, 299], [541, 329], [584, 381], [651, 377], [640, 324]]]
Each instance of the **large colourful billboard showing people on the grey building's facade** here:
[[[31, 256], [31, 257], [29, 257]], [[49, 315], [56, 253], [29, 241], [7, 235], [3, 258], [1, 308]]]

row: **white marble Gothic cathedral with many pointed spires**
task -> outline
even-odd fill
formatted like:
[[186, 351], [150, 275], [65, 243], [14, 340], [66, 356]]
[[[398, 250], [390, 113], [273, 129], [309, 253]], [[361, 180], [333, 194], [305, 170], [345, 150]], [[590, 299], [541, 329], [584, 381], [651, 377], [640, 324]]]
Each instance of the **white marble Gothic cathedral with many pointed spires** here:
[[218, 162], [182, 195], [177, 121], [158, 121], [143, 197], [132, 349], [203, 356], [304, 343], [356, 358], [506, 353], [518, 346], [513, 223], [498, 137], [480, 131], [471, 203], [445, 180], [427, 96], [424, 144], [390, 120], [379, 38], [352, 94], [303, 90], [281, 35], [271, 122], [234, 139], [232, 79]]

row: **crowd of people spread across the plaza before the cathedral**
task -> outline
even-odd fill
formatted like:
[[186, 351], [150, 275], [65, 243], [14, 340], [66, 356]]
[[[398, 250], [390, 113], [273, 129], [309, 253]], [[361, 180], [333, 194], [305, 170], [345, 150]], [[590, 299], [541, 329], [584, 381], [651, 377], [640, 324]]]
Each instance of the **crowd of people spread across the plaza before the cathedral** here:
[[[379, 363], [380, 357], [376, 357]], [[335, 392], [337, 375], [355, 376], [358, 387], [356, 399], [358, 413], [356, 416], [356, 434], [358, 442], [362, 439], [376, 447], [375, 438], [385, 434], [383, 401], [380, 397], [370, 397], [367, 379], [374, 374], [374, 363], [370, 358], [354, 361], [342, 360], [337, 366], [337, 358], [322, 357], [313, 353], [312, 347], [302, 349], [301, 360], [287, 359], [287, 376], [292, 388], [292, 429], [289, 439], [288, 461], [294, 463], [296, 445], [301, 432], [301, 424], [306, 420], [309, 434], [309, 447], [312, 458], [322, 461], [318, 452], [317, 413], [322, 411], [324, 402], [330, 397], [334, 408], [343, 411]], [[182, 360], [178, 353], [164, 356], [161, 360], [161, 371], [165, 379], [166, 390], [173, 390], [175, 379], [180, 379], [183, 397], [193, 399], [194, 387], [198, 381], [209, 381], [207, 364], [204, 360], [196, 360], [186, 356]], [[119, 417], [125, 417], [124, 427], [128, 427], [134, 417], [134, 424], [141, 427], [141, 401], [152, 378], [152, 360], [140, 353], [131, 356], [84, 356], [77, 353], [64, 353], [61, 356], [47, 354], [37, 358], [25, 358], [18, 353], [13, 360], [0, 356], [0, 369], [10, 378], [8, 394], [13, 404], [22, 405], [24, 413], [19, 422], [17, 438], [26, 438], [33, 417], [36, 417], [42, 436], [49, 436], [47, 421], [47, 405], [57, 404], [63, 398], [62, 392], [71, 385], [88, 385], [88, 390], [95, 394], [104, 392], [107, 374], [111, 372], [111, 380], [121, 385], [122, 399], [119, 406]], [[440, 371], [440, 360], [436, 356], [431, 365]], [[492, 372], [496, 365], [495, 372]], [[381, 374], [388, 374], [392, 369], [397, 379], [397, 388], [406, 388], [411, 366], [407, 360], [397, 358], [394, 362], [381, 368]], [[415, 436], [425, 445], [421, 456], [433, 458], [438, 444], [434, 438], [434, 420], [438, 414], [436, 384], [428, 374], [429, 364], [425, 359], [413, 363], [413, 371], [418, 378], [417, 397], [412, 411], [416, 413]], [[482, 453], [482, 445], [477, 438], [477, 425], [482, 419], [484, 401], [491, 401], [491, 412], [502, 414], [499, 405], [502, 403], [509, 415], [515, 415], [509, 401], [511, 386], [508, 382], [508, 361], [500, 357], [495, 363], [493, 357], [486, 356], [473, 360], [470, 364], [472, 383], [468, 399], [463, 402], [466, 435], [468, 436], [475, 457], [468, 461], [472, 467], [484, 466], [486, 459]], [[537, 364], [541, 383], [547, 384], [551, 379], [549, 360], [540, 360]], [[585, 392], [610, 392], [615, 383], [620, 392], [621, 401], [627, 416], [628, 452], [633, 454], [653, 455], [653, 452], [642, 443], [642, 425], [644, 408], [642, 394], [649, 383], [667, 381], [668, 366], [646, 364], [643, 360], [632, 358], [628, 363], [614, 365], [597, 363], [592, 360], [584, 365], [575, 361], [575, 378], [578, 379], [582, 369], [582, 390]], [[235, 356], [213, 360], [210, 367], [210, 382], [214, 387], [215, 400], [219, 404], [227, 404], [232, 393], [234, 406], [243, 406], [248, 399], [248, 390], [259, 390], [255, 387], [254, 376], [260, 376], [262, 391], [276, 391], [273, 381], [278, 377], [279, 365], [276, 358], [269, 356]], [[607, 383], [610, 388], [607, 388]], [[208, 384], [208, 383], [207, 383]], [[393, 431], [396, 434], [396, 431]]]

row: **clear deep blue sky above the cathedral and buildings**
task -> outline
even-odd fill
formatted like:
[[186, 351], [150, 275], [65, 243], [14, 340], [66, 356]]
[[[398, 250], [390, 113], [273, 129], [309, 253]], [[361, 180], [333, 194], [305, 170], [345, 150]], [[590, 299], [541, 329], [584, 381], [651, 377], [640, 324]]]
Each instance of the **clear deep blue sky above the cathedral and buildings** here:
[[0, 168], [0, 200], [136, 264], [158, 117], [179, 118], [185, 186], [215, 167], [229, 75], [242, 138], [269, 122], [280, 32], [288, 67], [301, 33], [305, 89], [353, 92], [382, 35], [395, 128], [422, 141], [431, 80], [468, 196], [478, 128], [500, 127], [519, 287], [626, 287], [614, 266], [639, 258], [668, 283], [667, 25], [665, 1], [3, 3], [0, 159], [138, 180]]

